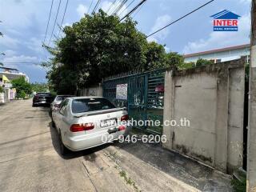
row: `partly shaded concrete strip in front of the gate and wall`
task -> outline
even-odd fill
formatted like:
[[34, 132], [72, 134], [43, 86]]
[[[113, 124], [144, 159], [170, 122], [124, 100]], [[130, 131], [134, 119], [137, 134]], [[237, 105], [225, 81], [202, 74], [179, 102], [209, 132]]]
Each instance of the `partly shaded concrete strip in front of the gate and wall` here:
[[229, 175], [158, 144], [115, 143], [103, 151], [142, 191], [233, 191]]

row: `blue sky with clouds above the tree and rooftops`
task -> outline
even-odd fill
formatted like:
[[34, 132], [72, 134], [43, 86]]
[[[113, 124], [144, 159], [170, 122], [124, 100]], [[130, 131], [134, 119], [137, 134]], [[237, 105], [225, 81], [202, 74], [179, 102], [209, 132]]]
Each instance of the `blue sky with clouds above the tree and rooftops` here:
[[[0, 62], [6, 67], [15, 67], [29, 76], [30, 82], [47, 82], [46, 69], [35, 64], [46, 61], [50, 54], [42, 47], [46, 34], [46, 44], [50, 42], [50, 34], [58, 35], [59, 28], [54, 26], [58, 3], [61, 1], [57, 23], [60, 25], [66, 6], [66, 0], [54, 0], [48, 33], [46, 26], [50, 13], [51, 0], [0, 0]], [[126, 14], [141, 0], [126, 2], [121, 16]], [[138, 22], [137, 28], [144, 34], [150, 34], [162, 26], [187, 14], [209, 0], [147, 0], [142, 8], [132, 14]], [[63, 26], [78, 22], [84, 14], [91, 13], [97, 0], [70, 0], [66, 9]], [[113, 0], [102, 0], [99, 8], [108, 10]], [[118, 0], [117, 0], [118, 2]], [[215, 0], [194, 14], [184, 18], [174, 25], [154, 34], [148, 41], [165, 45], [166, 51], [179, 54], [190, 54], [199, 51], [212, 50], [227, 46], [237, 46], [250, 43], [250, 0]], [[117, 5], [115, 5], [117, 6]], [[114, 7], [114, 6], [113, 6]], [[221, 10], [230, 10], [241, 16], [238, 21], [238, 32], [214, 32], [213, 20], [210, 15]], [[114, 8], [109, 12], [112, 13]], [[61, 34], [62, 35], [62, 34]], [[54, 39], [54, 38], [53, 38]], [[15, 63], [11, 63], [15, 62]]]

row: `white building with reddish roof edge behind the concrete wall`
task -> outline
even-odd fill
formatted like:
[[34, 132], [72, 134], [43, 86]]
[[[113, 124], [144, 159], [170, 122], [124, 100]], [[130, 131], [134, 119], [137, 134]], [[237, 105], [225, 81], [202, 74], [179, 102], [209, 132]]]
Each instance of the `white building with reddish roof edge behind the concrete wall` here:
[[203, 58], [217, 63], [231, 61], [241, 58], [242, 56], [246, 56], [248, 61], [250, 58], [250, 44], [230, 46], [217, 50], [207, 50], [194, 54], [185, 54], [183, 57], [185, 62], [197, 62], [198, 58]]

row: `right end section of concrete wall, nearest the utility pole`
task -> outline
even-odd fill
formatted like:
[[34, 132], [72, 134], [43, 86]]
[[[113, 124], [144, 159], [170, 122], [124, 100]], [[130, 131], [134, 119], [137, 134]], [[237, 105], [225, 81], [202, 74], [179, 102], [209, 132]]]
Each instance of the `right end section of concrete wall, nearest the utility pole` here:
[[[245, 60], [240, 60], [243, 66]], [[229, 76], [229, 119], [227, 173], [242, 167], [245, 70], [231, 68]], [[247, 117], [246, 117], [247, 118]]]

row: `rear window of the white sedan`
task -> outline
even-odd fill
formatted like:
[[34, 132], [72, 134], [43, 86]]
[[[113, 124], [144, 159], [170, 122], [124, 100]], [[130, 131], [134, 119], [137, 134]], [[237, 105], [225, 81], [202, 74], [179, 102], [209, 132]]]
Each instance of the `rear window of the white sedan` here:
[[106, 98], [79, 98], [72, 101], [72, 112], [74, 114], [114, 109], [115, 106]]

